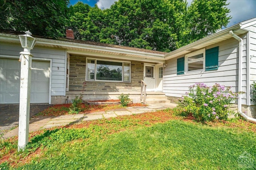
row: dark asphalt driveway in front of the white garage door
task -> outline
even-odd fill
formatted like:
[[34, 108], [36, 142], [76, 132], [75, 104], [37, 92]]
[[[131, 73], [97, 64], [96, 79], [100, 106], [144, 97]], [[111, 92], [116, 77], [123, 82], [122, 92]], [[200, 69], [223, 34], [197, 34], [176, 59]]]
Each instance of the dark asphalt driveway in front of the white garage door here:
[[[46, 109], [49, 104], [30, 104], [30, 118]], [[19, 125], [19, 104], [0, 105], [0, 135]]]

